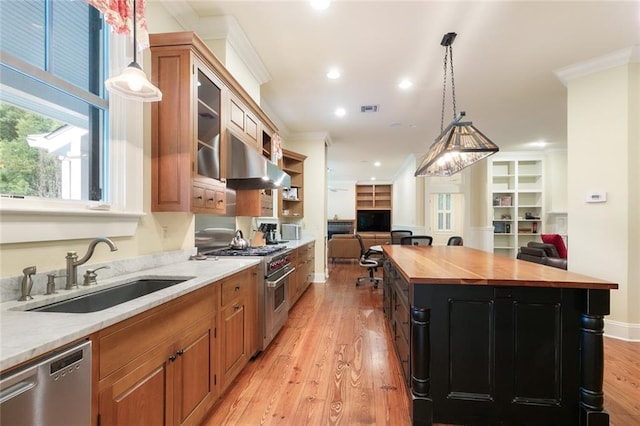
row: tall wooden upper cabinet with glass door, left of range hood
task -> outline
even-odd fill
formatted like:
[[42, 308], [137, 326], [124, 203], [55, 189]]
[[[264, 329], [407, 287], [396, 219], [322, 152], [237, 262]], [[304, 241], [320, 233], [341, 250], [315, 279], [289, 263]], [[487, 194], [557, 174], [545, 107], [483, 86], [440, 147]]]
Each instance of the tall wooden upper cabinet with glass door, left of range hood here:
[[221, 66], [193, 33], [152, 34], [151, 210], [225, 213]]

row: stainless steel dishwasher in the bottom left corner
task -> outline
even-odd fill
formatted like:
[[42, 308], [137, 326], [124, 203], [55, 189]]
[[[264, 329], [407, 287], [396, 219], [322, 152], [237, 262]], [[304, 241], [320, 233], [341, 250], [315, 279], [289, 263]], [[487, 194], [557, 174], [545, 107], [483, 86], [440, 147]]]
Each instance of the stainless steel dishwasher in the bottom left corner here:
[[0, 424], [91, 424], [91, 342], [0, 376]]

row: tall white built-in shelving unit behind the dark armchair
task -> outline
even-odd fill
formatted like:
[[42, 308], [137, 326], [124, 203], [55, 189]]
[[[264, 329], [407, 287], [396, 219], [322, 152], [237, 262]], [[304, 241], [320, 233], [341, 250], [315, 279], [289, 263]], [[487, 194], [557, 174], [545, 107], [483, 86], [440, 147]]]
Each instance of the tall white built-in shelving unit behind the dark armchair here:
[[496, 157], [489, 162], [493, 251], [515, 257], [543, 232], [543, 161]]

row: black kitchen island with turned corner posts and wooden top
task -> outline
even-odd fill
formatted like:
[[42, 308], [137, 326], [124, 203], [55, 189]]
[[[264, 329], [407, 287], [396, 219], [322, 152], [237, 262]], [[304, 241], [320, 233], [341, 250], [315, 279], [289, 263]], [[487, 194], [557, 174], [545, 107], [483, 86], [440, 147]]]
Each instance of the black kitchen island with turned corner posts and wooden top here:
[[414, 425], [606, 425], [617, 284], [468, 247], [386, 245], [384, 310]]

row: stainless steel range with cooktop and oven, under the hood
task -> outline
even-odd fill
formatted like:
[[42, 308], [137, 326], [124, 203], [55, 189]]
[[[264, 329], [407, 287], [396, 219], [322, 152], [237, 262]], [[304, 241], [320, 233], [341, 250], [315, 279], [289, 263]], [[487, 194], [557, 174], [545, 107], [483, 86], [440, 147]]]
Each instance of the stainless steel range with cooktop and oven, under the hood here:
[[206, 256], [252, 256], [260, 257], [258, 274], [263, 277], [258, 285], [258, 323], [262, 330], [258, 347], [267, 348], [278, 334], [289, 316], [289, 275], [295, 271], [291, 266], [291, 249], [286, 246], [249, 247], [244, 250], [230, 248], [203, 252]]

